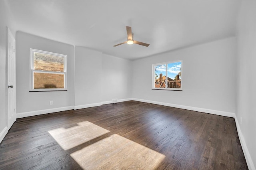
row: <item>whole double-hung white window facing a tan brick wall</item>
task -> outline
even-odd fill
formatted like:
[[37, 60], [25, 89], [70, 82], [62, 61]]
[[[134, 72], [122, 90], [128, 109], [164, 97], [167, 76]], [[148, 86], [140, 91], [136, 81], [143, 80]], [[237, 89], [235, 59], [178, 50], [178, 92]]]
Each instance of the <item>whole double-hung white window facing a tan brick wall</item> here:
[[30, 48], [30, 91], [67, 90], [67, 55]]

